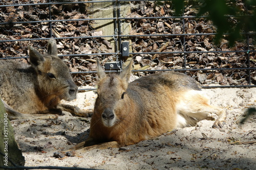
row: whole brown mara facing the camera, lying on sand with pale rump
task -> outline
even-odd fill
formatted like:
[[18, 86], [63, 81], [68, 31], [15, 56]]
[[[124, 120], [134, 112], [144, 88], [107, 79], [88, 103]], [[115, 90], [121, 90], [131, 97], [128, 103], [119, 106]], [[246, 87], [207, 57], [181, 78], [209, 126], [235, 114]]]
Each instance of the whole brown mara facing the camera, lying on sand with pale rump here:
[[79, 152], [135, 144], [178, 127], [195, 126], [208, 113], [225, 121], [226, 110], [209, 105], [198, 83], [178, 72], [162, 72], [131, 83], [131, 62], [120, 75], [106, 75], [98, 64], [98, 98], [89, 138], [72, 150]]

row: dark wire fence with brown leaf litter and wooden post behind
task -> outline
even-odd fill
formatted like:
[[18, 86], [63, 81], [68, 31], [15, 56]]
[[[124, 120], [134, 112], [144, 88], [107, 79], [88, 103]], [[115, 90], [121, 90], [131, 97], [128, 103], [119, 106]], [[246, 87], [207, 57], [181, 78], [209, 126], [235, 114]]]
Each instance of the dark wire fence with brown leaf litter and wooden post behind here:
[[256, 87], [255, 33], [241, 34], [246, 38], [234, 46], [225, 35], [216, 45], [216, 28], [207, 16], [197, 17], [189, 3], [182, 16], [174, 16], [171, 1], [0, 3], [0, 59], [27, 62], [28, 44], [45, 52], [53, 37], [80, 89], [95, 84], [96, 58], [109, 71], [121, 69], [113, 62], [133, 59], [139, 77], [175, 70], [203, 88]]

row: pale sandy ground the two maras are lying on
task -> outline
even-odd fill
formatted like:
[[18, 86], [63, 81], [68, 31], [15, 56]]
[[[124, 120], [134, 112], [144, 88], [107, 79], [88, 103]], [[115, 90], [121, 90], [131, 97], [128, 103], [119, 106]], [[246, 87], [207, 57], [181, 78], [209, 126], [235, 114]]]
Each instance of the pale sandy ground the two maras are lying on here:
[[[97, 169], [255, 169], [256, 115], [238, 124], [248, 107], [256, 104], [256, 88], [203, 89], [212, 104], [228, 110], [227, 124], [212, 129], [212, 120], [202, 120], [196, 127], [175, 129], [153, 139], [122, 148], [92, 150], [75, 157], [55, 158], [56, 151], [66, 151], [88, 137], [90, 118], [70, 113], [48, 119], [12, 120], [15, 138], [23, 151], [26, 166], [67, 166]], [[70, 102], [83, 109], [93, 109], [93, 91], [78, 94]]]

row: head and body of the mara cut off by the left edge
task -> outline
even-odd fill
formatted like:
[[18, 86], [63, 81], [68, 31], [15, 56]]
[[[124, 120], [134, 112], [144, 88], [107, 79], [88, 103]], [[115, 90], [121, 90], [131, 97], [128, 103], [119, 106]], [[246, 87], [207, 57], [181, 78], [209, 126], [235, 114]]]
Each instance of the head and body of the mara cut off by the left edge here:
[[55, 40], [49, 40], [45, 55], [28, 48], [31, 65], [0, 60], [2, 100], [20, 113], [33, 114], [55, 108], [62, 99], [75, 99], [78, 87], [68, 66], [57, 57]]

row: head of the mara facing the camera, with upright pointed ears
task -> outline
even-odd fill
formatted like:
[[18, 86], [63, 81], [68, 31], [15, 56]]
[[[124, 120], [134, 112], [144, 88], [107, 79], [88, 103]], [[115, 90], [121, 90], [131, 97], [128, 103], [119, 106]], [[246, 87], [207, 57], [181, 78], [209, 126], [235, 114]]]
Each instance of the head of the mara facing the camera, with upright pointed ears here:
[[[106, 75], [102, 69], [99, 60], [98, 65], [98, 98], [95, 102], [94, 114], [97, 116], [105, 127], [113, 127], [119, 121], [122, 115], [128, 96], [126, 89], [131, 75], [133, 61], [127, 65], [120, 75]], [[126, 102], [125, 102], [126, 101]]]

